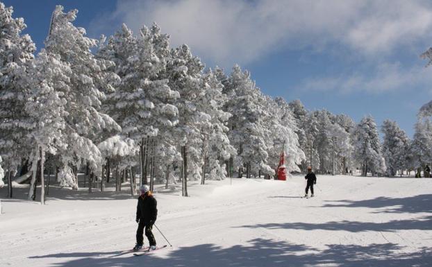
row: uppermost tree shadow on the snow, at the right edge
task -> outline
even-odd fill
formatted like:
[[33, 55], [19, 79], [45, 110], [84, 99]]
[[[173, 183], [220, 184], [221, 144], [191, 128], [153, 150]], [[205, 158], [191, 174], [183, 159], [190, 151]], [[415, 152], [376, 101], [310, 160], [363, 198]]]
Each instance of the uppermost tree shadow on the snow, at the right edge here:
[[[388, 213], [419, 213], [432, 212], [432, 194], [409, 196], [406, 198], [372, 198], [368, 200], [338, 200], [331, 201], [338, 204], [326, 204], [323, 207], [369, 207], [385, 208], [383, 211]], [[397, 207], [394, 207], [397, 206]]]

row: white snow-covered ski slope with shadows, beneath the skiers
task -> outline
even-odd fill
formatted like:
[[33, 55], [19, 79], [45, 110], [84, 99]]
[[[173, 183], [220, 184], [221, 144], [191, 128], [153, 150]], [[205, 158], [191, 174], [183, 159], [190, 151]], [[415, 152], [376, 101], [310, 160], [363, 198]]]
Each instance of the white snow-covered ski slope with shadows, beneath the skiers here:
[[126, 186], [51, 189], [45, 206], [2, 198], [0, 266], [432, 266], [432, 179], [318, 175], [316, 198], [303, 190], [301, 176], [159, 190], [156, 225], [174, 247], [143, 257], [117, 255], [135, 244]]

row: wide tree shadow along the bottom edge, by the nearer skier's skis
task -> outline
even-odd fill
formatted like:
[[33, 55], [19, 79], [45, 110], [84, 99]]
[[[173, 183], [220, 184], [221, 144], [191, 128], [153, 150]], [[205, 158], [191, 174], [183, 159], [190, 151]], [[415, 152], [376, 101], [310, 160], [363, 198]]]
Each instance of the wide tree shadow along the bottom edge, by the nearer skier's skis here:
[[[401, 252], [401, 247], [393, 243], [357, 245], [329, 245], [324, 250], [316, 250], [304, 245], [285, 241], [254, 239], [244, 246], [222, 248], [214, 244], [176, 248], [167, 255], [158, 257], [158, 252], [142, 257], [124, 255], [123, 257], [101, 257], [110, 252], [60, 253], [31, 257], [32, 259], [49, 257], [78, 258], [61, 263], [56, 267], [105, 267], [105, 266], [152, 266], [152, 267], [306, 267], [316, 265], [366, 267], [366, 266], [417, 266], [426, 267], [432, 262], [431, 248], [413, 253]], [[114, 252], [112, 252], [114, 253]], [[160, 255], [162, 256], [162, 254]], [[45, 260], [46, 261], [46, 260]], [[36, 262], [35, 262], [36, 263]]]

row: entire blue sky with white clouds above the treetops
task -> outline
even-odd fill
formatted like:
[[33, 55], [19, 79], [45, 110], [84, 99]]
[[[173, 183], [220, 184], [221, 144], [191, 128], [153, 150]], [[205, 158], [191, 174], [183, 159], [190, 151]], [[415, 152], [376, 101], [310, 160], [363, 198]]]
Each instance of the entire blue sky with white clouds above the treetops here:
[[[1, 0], [0, 0], [1, 1]], [[43, 47], [56, 4], [79, 10], [90, 37], [126, 23], [137, 32], [156, 21], [172, 46], [189, 44], [208, 67], [251, 71], [265, 94], [300, 99], [378, 125], [392, 119], [413, 135], [416, 114], [432, 98], [432, 2], [423, 0], [3, 0], [24, 17]]]

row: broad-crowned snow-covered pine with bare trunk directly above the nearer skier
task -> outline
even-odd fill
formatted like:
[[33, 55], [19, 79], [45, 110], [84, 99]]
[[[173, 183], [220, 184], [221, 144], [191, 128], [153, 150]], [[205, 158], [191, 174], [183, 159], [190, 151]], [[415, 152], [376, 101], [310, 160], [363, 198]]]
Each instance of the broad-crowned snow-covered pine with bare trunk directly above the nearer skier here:
[[[168, 80], [160, 78], [169, 55], [169, 37], [153, 24], [143, 27], [140, 38], [124, 24], [122, 31], [110, 37], [98, 56], [115, 62], [113, 71], [121, 78], [116, 92], [108, 95], [104, 110], [122, 126], [122, 135], [140, 146], [140, 165], [147, 184], [147, 139], [170, 140], [167, 129], [177, 122], [178, 110], [173, 105], [179, 94], [169, 88]], [[167, 136], [167, 135], [168, 136]], [[144, 165], [144, 166], [143, 166]]]

